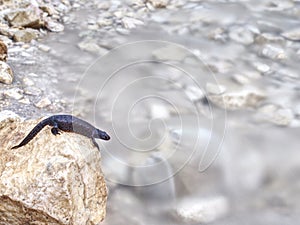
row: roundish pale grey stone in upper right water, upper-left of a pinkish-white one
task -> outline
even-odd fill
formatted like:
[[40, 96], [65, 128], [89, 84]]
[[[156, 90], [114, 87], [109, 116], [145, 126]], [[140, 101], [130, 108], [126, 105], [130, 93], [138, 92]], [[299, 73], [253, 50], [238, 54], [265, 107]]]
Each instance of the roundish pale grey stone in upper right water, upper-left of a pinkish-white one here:
[[254, 42], [254, 34], [245, 27], [238, 26], [231, 28], [229, 37], [244, 45], [250, 45]]

